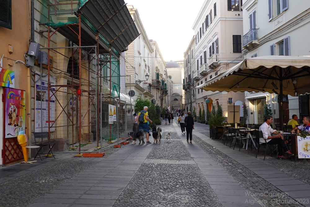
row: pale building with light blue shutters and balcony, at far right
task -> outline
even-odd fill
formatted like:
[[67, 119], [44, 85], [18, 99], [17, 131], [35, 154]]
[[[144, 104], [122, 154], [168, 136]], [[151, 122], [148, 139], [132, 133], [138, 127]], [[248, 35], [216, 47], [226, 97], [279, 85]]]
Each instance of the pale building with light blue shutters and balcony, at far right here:
[[[243, 46], [244, 58], [268, 55], [307, 56], [310, 54], [310, 2], [307, 0], [243, 0]], [[293, 80], [292, 80], [293, 81]], [[287, 82], [288, 83], [288, 82]], [[286, 83], [283, 83], [285, 86]], [[245, 93], [249, 106], [249, 122], [263, 122], [264, 108], [270, 105], [273, 118], [279, 123], [279, 101], [275, 93]], [[283, 123], [293, 114], [299, 117], [299, 97], [283, 99]], [[307, 106], [309, 109], [309, 106]], [[301, 112], [300, 114], [304, 114]], [[301, 118], [302, 119], [302, 118]], [[300, 123], [300, 121], [298, 120]]]

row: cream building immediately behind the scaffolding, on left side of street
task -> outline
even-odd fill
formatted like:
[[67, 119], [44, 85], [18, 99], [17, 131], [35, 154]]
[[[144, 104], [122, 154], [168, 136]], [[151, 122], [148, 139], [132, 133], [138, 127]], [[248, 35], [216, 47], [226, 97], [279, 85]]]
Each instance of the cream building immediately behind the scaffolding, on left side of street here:
[[[153, 48], [144, 29], [139, 12], [132, 5], [127, 5], [132, 19], [140, 33], [125, 51], [126, 75], [131, 75], [131, 79], [126, 78], [126, 94], [130, 88], [135, 92], [132, 97], [135, 100], [138, 96], [142, 98], [153, 98], [152, 95], [152, 53]], [[145, 75], [148, 74], [148, 80]], [[130, 82], [131, 80], [131, 82]], [[142, 82], [141, 82], [142, 81]]]

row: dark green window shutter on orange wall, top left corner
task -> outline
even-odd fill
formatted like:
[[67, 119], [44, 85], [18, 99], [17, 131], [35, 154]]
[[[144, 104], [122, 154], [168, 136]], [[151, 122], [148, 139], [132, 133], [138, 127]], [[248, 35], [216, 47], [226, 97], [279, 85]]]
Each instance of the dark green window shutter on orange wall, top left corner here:
[[0, 26], [12, 29], [12, 1], [0, 0]]

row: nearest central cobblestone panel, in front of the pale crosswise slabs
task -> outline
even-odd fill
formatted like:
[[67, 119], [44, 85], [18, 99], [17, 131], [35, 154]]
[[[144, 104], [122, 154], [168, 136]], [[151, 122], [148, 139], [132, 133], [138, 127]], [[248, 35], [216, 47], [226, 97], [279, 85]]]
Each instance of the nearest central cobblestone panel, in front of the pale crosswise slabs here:
[[222, 205], [196, 164], [143, 163], [114, 204], [134, 206]]

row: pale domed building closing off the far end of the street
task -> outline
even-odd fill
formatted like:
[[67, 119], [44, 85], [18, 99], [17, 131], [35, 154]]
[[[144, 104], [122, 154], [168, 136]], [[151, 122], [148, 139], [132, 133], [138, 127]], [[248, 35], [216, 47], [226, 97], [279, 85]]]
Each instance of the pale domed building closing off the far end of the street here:
[[[183, 66], [184, 61], [178, 61], [181, 66]], [[184, 79], [184, 68], [181, 67], [177, 62], [169, 61], [166, 62], [166, 70], [168, 74], [168, 79], [170, 79], [173, 84], [169, 87], [173, 89], [171, 96], [167, 98], [171, 101], [171, 110], [184, 109], [184, 90], [183, 90], [183, 79]]]

